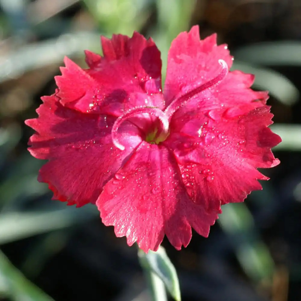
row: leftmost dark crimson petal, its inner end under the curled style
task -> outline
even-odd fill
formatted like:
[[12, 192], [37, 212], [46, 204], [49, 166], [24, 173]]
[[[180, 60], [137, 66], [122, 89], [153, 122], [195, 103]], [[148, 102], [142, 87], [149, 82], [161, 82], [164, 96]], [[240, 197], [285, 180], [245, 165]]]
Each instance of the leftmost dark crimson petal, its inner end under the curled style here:
[[49, 160], [38, 180], [54, 191], [54, 198], [69, 205], [95, 203], [102, 187], [124, 164], [141, 142], [137, 127], [124, 122], [119, 138], [125, 151], [112, 142], [115, 118], [83, 114], [63, 107], [57, 96], [45, 96], [37, 110], [39, 118], [26, 120], [37, 131], [30, 140], [30, 153]]

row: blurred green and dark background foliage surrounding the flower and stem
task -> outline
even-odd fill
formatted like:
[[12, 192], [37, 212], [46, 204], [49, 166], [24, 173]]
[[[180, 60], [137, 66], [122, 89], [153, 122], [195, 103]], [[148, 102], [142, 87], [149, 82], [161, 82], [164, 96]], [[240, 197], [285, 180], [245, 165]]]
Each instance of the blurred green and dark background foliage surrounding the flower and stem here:
[[[209, 238], [175, 251], [182, 300], [301, 299], [301, 2], [299, 0], [0, 0], [0, 300], [147, 301], [135, 247], [101, 224], [94, 206], [51, 201], [26, 151], [42, 95], [54, 92], [64, 55], [85, 66], [99, 35], [152, 36], [163, 60], [194, 24], [218, 33], [233, 69], [270, 91], [281, 165], [263, 190], [224, 206]], [[239, 183], [238, 183], [239, 185]]]

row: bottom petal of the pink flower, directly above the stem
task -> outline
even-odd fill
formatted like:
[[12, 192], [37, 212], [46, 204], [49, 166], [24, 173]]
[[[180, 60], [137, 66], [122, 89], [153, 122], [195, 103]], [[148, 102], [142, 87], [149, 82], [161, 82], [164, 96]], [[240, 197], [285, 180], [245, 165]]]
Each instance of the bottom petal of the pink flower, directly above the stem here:
[[147, 142], [104, 186], [96, 204], [102, 222], [114, 225], [116, 236], [126, 236], [129, 245], [137, 241], [145, 252], [157, 250], [164, 233], [180, 250], [191, 239], [191, 226], [208, 236], [218, 217], [188, 197], [172, 154]]

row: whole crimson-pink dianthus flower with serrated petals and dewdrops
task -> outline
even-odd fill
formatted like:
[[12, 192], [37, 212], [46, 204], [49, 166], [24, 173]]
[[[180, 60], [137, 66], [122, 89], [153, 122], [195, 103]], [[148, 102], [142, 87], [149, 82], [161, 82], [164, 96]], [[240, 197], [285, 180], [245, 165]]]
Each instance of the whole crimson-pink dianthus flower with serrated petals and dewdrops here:
[[166, 235], [180, 250], [191, 228], [208, 236], [221, 205], [261, 189], [258, 167], [279, 163], [268, 93], [228, 71], [227, 46], [200, 41], [197, 26], [172, 42], [163, 92], [152, 39], [101, 42], [103, 57], [85, 52], [86, 70], [65, 58], [55, 94], [26, 121], [30, 153], [49, 160], [38, 179], [68, 205], [96, 203], [129, 245], [157, 250]]

